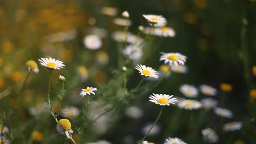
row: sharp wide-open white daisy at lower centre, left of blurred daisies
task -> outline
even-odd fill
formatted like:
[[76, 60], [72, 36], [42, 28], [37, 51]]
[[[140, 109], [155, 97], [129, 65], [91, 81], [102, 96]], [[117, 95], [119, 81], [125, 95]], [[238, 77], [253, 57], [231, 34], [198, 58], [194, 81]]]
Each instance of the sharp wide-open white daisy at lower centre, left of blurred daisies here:
[[[154, 95], [154, 96], [153, 96]], [[172, 98], [173, 95], [168, 95], [168, 94], [154, 94], [150, 95], [149, 101], [155, 104], [159, 105], [170, 105], [170, 104], [175, 104], [178, 102], [176, 98]]]

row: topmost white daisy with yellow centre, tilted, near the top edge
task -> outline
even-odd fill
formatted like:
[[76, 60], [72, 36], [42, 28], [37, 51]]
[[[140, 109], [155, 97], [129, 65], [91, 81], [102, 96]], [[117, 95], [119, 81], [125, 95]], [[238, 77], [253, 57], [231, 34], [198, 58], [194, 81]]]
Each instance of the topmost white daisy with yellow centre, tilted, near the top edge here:
[[166, 19], [161, 15], [143, 15], [150, 26], [162, 27], [166, 25]]

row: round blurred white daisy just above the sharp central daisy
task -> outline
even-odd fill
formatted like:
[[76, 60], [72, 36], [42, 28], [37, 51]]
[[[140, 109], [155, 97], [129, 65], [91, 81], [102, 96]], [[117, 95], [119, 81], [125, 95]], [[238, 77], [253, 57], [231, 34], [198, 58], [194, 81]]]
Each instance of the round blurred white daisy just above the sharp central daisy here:
[[138, 61], [142, 56], [142, 47], [136, 45], [127, 45], [125, 47], [124, 54], [133, 61]]

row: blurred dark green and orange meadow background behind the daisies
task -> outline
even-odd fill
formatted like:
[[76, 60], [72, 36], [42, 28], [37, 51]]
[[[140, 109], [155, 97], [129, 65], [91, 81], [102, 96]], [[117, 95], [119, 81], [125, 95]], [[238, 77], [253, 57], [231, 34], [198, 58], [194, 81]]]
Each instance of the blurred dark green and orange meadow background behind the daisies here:
[[[158, 87], [142, 94], [139, 99], [127, 101], [120, 98], [125, 92], [118, 88], [123, 85], [120, 78], [123, 72], [118, 65], [118, 47], [122, 44], [113, 38], [114, 32], [124, 30], [113, 20], [121, 17], [125, 10], [129, 11], [132, 21], [129, 32], [137, 34], [139, 25], [149, 26], [142, 14], [156, 14], [164, 16], [167, 26], [176, 33], [172, 38], [152, 35], [150, 55], [139, 62], [158, 69], [163, 64], [159, 61], [160, 52], [179, 52], [188, 57], [185, 63], [187, 74], [172, 72]], [[60, 115], [71, 121], [75, 141], [88, 143], [104, 139], [111, 143], [136, 143], [143, 137], [143, 128], [153, 123], [159, 112], [158, 105], [148, 102], [150, 94], [166, 93], [184, 98], [179, 91], [182, 84], [200, 87], [206, 83], [218, 90], [215, 100], [220, 101], [224, 97], [222, 107], [231, 110], [233, 118], [219, 118], [213, 110], [190, 112], [175, 106], [165, 107], [155, 133], [147, 140], [164, 143], [170, 136], [179, 137], [187, 143], [208, 143], [203, 139], [201, 129], [211, 127], [219, 135], [216, 143], [255, 143], [256, 93], [252, 92], [256, 88], [256, 68], [253, 67], [256, 65], [255, 13], [254, 0], [2, 0], [0, 122], [9, 128], [9, 139], [13, 143], [69, 142], [58, 135], [54, 119], [47, 112], [38, 116], [45, 110], [42, 105], [46, 102], [49, 71], [39, 65], [39, 73], [31, 74], [24, 91], [20, 91], [27, 75], [26, 61], [32, 59], [38, 63], [40, 57], [53, 57], [65, 63], [66, 67], [54, 70], [52, 95], [57, 95], [61, 87], [59, 75], [65, 76], [66, 92], [61, 109], [69, 106], [78, 109], [69, 113], [71, 118]], [[86, 49], [84, 38], [89, 34], [97, 34], [101, 38], [100, 49]], [[146, 36], [141, 34], [141, 37]], [[134, 64], [140, 63], [129, 63], [127, 69], [133, 69]], [[141, 80], [137, 71], [132, 71], [127, 79], [127, 89], [136, 87]], [[229, 83], [232, 90], [223, 91], [220, 83]], [[92, 101], [90, 113], [100, 115], [112, 110], [108, 105], [114, 108], [97, 122], [89, 123], [80, 136], [78, 131], [83, 123], [81, 113], [86, 98], [80, 97], [79, 92], [87, 86], [100, 89], [92, 97], [95, 101]], [[16, 95], [19, 97], [12, 110]], [[197, 100], [202, 97], [201, 94]], [[57, 98], [53, 100], [53, 105], [55, 103]], [[133, 111], [141, 115], [130, 116], [129, 106], [139, 107], [139, 112], [137, 109]], [[78, 114], [73, 116], [74, 113]], [[199, 121], [200, 125], [194, 127]], [[228, 133], [223, 131], [223, 124], [233, 121], [242, 122], [242, 129]], [[34, 131], [40, 131], [43, 136], [34, 137]]]

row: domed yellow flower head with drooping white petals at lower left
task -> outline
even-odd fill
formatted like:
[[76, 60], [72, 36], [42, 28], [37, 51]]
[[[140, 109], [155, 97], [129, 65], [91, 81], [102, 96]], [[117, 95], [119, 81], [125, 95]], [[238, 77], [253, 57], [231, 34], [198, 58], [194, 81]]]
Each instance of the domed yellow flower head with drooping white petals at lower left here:
[[71, 129], [71, 123], [68, 119], [60, 119], [57, 128], [61, 133], [65, 133], [68, 139], [72, 137], [71, 133], [74, 131]]

